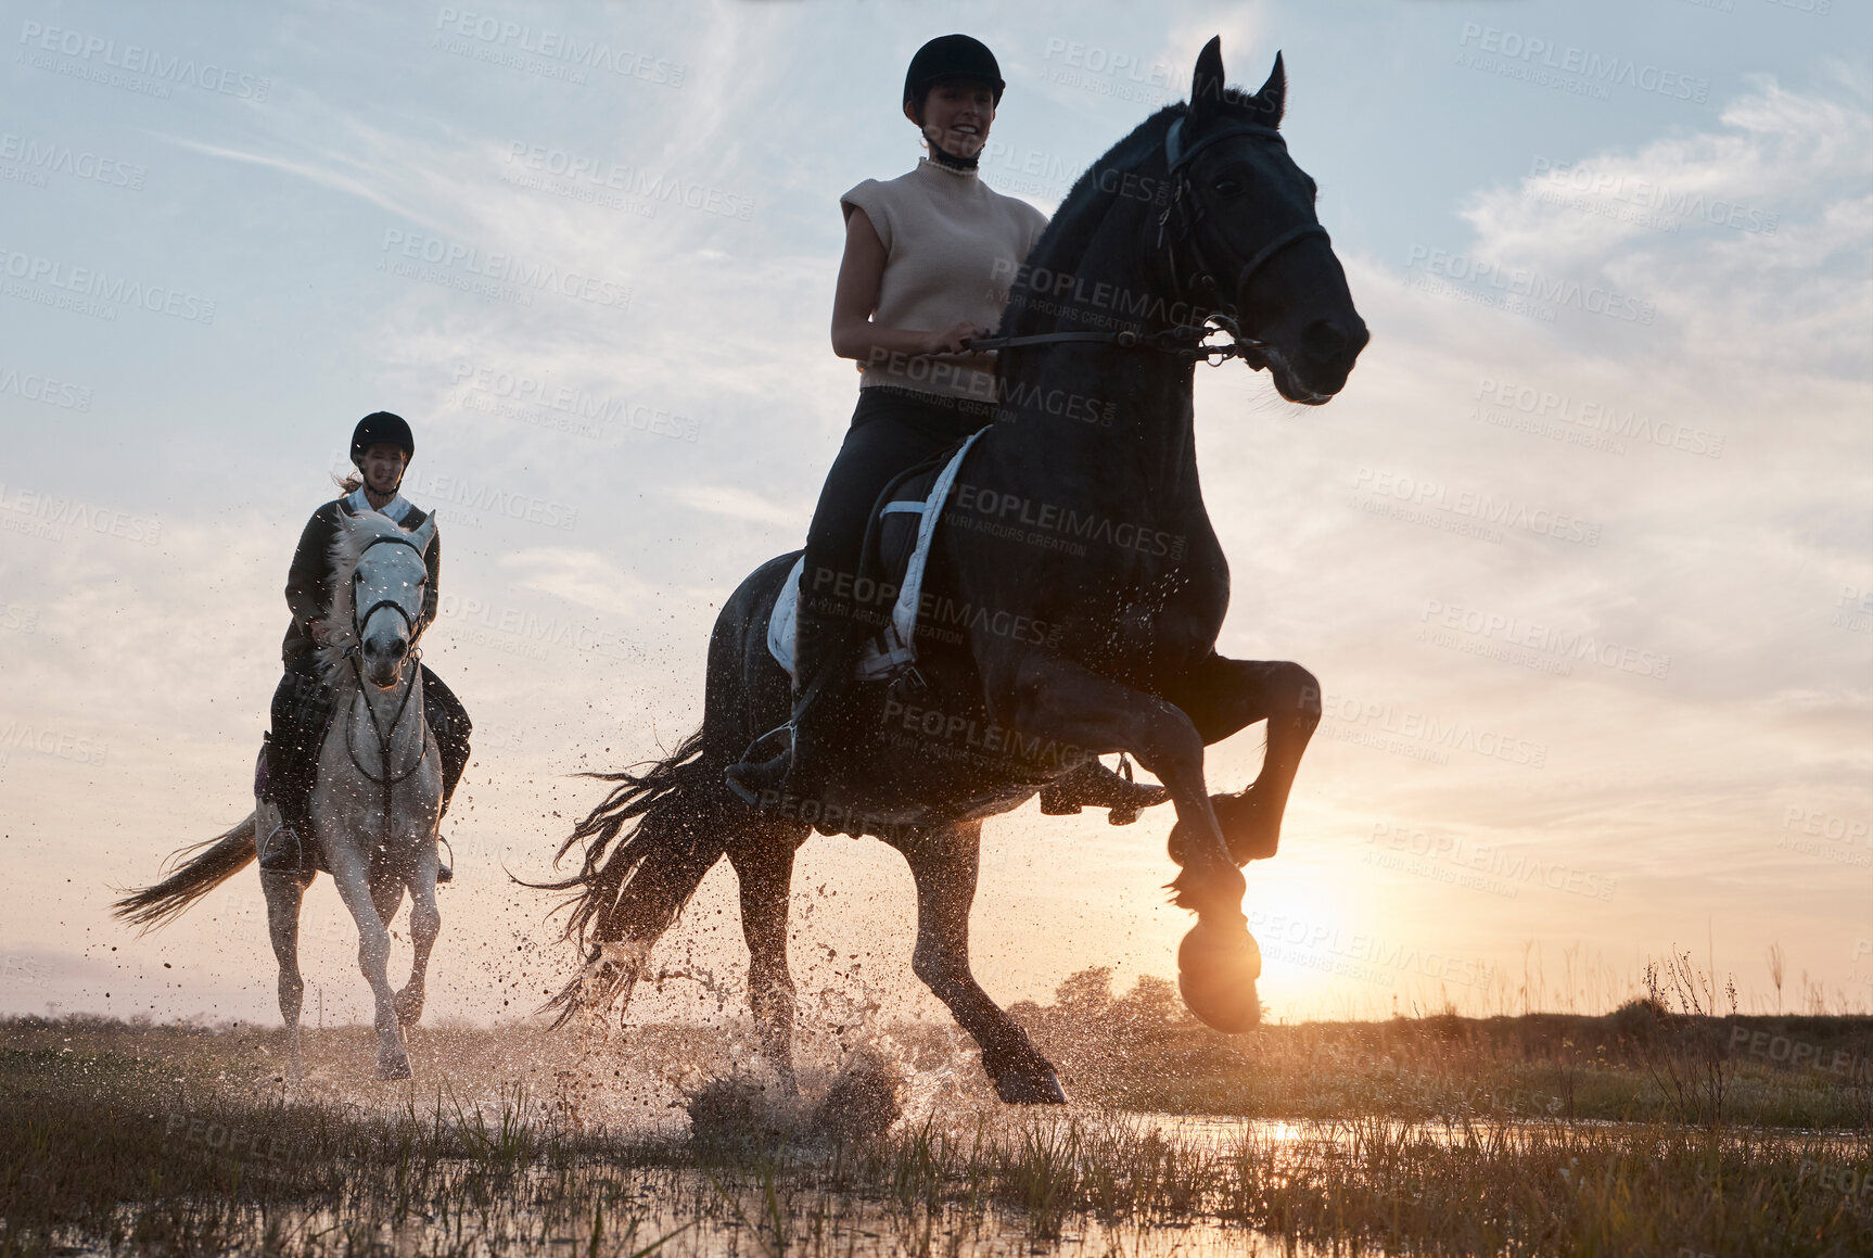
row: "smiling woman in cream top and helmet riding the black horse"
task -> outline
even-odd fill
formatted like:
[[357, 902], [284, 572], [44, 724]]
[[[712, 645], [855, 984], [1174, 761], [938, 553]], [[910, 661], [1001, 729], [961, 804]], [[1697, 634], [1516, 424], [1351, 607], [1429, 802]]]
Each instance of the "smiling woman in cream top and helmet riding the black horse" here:
[[[807, 529], [794, 647], [794, 716], [777, 754], [727, 771], [749, 804], [811, 797], [824, 776], [828, 727], [865, 636], [890, 607], [865, 604], [858, 581], [865, 523], [899, 472], [953, 446], [996, 416], [993, 354], [970, 354], [1000, 321], [1015, 276], [1047, 217], [981, 182], [976, 165], [1002, 101], [995, 54], [968, 36], [931, 39], [905, 75], [905, 116], [929, 157], [890, 182], [865, 180], [839, 199], [845, 257], [832, 309], [832, 347], [860, 367], [858, 407]], [[1111, 808], [1114, 823], [1163, 802], [1096, 759], [1041, 793], [1049, 814]]]

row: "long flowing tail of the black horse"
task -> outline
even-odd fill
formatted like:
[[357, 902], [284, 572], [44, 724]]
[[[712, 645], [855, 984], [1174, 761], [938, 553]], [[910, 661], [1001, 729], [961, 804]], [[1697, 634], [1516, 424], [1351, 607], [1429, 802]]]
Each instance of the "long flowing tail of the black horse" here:
[[523, 883], [573, 892], [560, 906], [569, 909], [562, 939], [586, 952], [579, 975], [541, 1007], [558, 1011], [553, 1026], [584, 1009], [603, 1012], [618, 997], [627, 1001], [650, 945], [727, 851], [723, 806], [732, 797], [721, 769], [721, 757], [708, 754], [699, 729], [648, 769], [584, 774], [618, 786], [553, 857], [558, 864], [583, 842], [579, 872], [560, 883]]

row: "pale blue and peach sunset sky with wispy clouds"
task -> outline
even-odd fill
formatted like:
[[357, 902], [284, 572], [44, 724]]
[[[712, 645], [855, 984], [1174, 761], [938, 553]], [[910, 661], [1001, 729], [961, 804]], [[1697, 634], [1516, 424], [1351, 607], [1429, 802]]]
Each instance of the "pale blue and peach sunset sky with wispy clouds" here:
[[[689, 733], [721, 600], [800, 544], [856, 392], [837, 199], [914, 165], [905, 64], [951, 30], [1008, 79], [985, 178], [1045, 212], [1212, 34], [1249, 88], [1285, 52], [1373, 341], [1320, 409], [1197, 377], [1219, 647], [1326, 690], [1247, 872], [1270, 1016], [1601, 1009], [1674, 947], [1744, 1011], [1873, 1009], [1866, 6], [279, 7], [0, 26], [0, 1012], [277, 1020], [251, 870], [142, 939], [107, 906], [251, 808], [287, 562], [376, 409], [478, 727], [431, 1011], [558, 986], [504, 870], [596, 802], [569, 774]], [[987, 990], [1174, 973], [1169, 827], [993, 821]], [[794, 885], [804, 1016], [942, 1012], [897, 853], [813, 838]], [[732, 996], [732, 891], [657, 954], [719, 982], [641, 1016]], [[322, 879], [328, 1020], [367, 1012], [354, 947]]]

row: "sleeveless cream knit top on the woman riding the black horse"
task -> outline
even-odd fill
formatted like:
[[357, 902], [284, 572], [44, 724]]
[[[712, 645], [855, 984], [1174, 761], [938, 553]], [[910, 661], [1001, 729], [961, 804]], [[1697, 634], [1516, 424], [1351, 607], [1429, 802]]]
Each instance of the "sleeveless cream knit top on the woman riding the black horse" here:
[[[940, 332], [968, 321], [995, 328], [1015, 270], [1047, 227], [1026, 201], [1004, 197], [974, 171], [918, 159], [895, 180], [865, 180], [839, 197], [847, 217], [863, 210], [884, 242], [884, 277], [873, 319], [888, 328]], [[860, 364], [860, 388], [895, 384], [923, 394], [995, 401], [995, 356], [892, 354]]]

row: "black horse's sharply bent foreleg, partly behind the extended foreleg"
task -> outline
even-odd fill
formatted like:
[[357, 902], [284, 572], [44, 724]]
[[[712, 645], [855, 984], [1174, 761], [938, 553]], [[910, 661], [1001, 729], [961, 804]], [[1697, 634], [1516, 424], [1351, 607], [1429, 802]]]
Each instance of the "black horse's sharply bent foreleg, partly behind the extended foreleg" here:
[[[1255, 782], [1236, 795], [1212, 795], [1216, 819], [1236, 864], [1266, 861], [1281, 846], [1281, 817], [1300, 757], [1320, 724], [1320, 682], [1287, 660], [1229, 660], [1212, 654], [1172, 686], [1167, 697], [1189, 716], [1206, 744], [1268, 722], [1268, 750]], [[1191, 831], [1178, 819], [1171, 859], [1186, 862]]]

